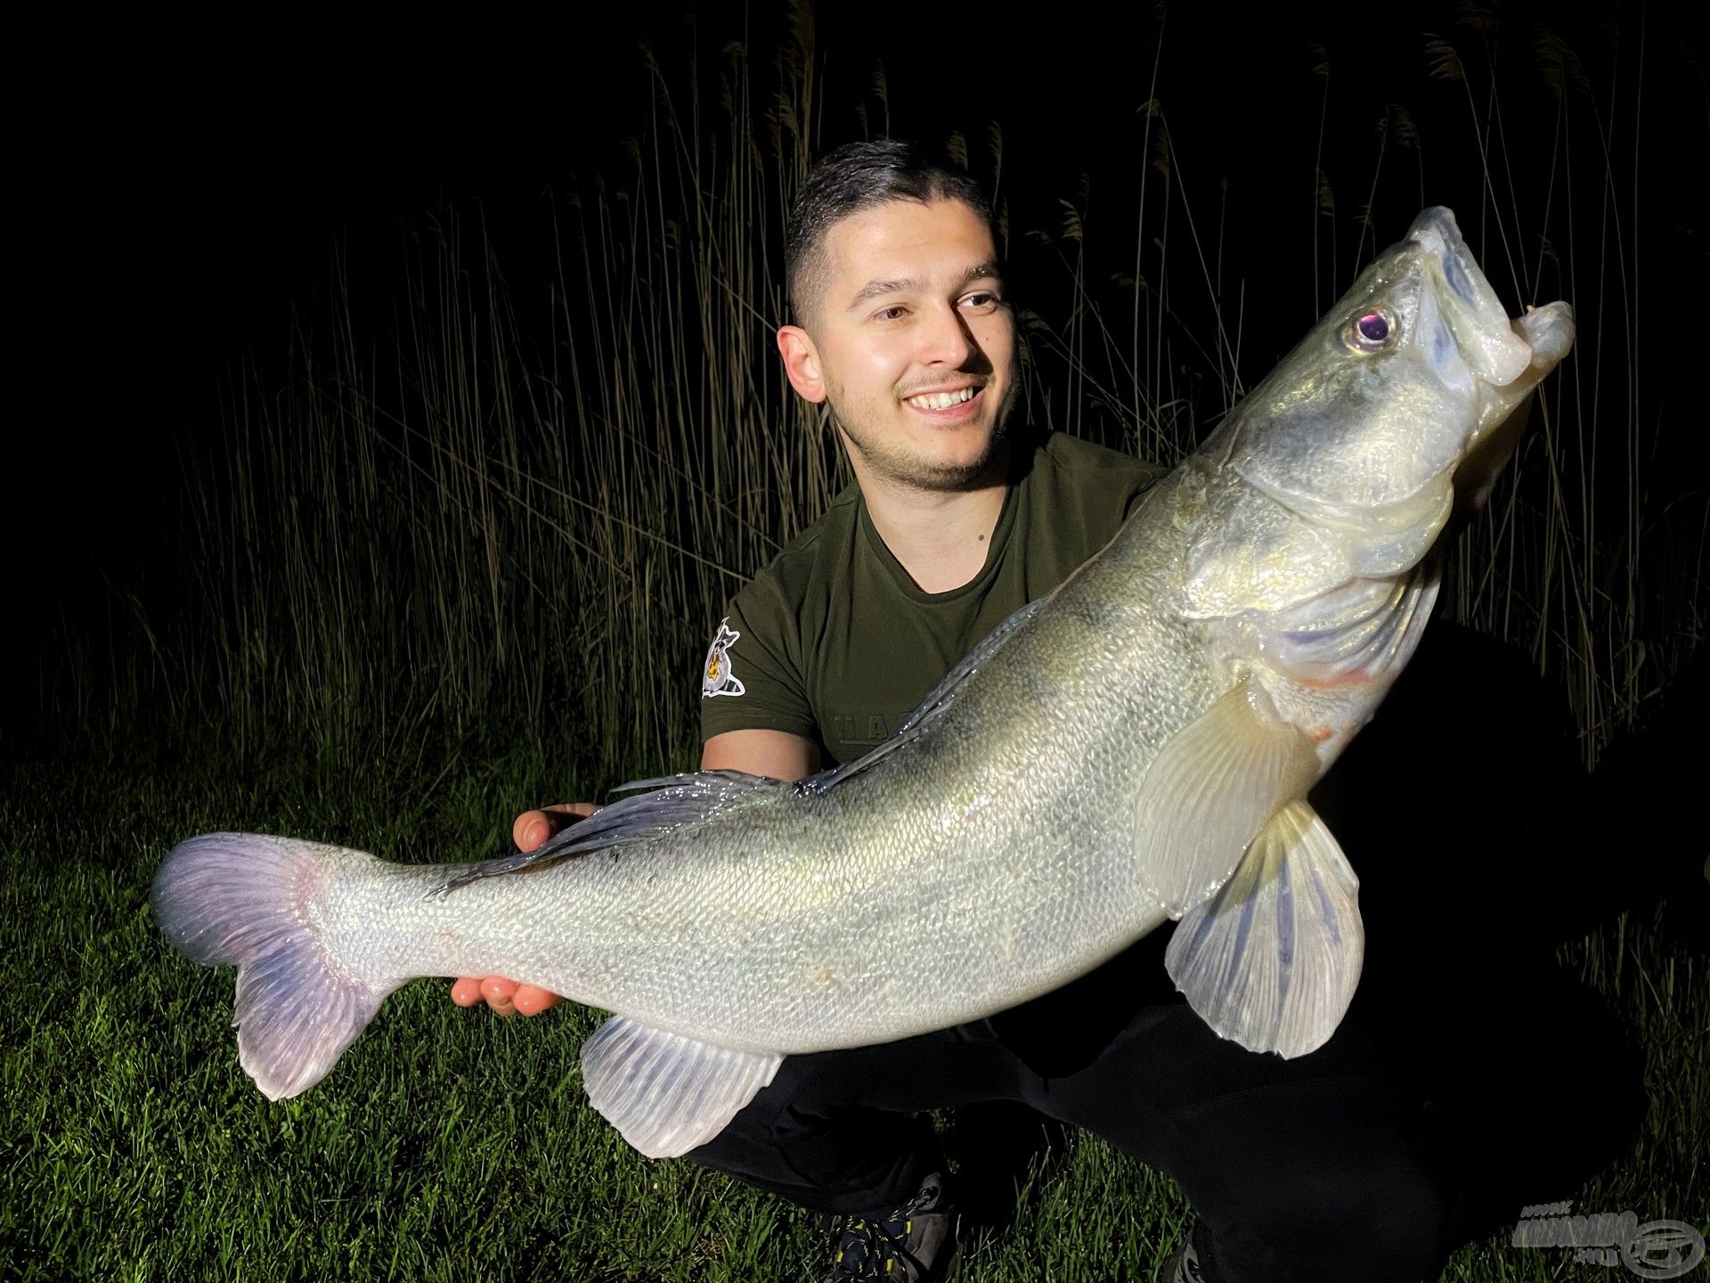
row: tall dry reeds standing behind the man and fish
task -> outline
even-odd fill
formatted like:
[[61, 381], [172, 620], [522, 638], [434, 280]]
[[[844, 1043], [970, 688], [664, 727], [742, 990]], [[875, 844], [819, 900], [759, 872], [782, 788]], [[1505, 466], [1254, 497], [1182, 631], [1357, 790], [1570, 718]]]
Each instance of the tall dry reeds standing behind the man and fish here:
[[[77, 715], [164, 707], [176, 725], [222, 727], [238, 751], [299, 739], [345, 765], [499, 736], [602, 780], [689, 766], [722, 602], [846, 481], [773, 349], [783, 212], [823, 149], [812, 22], [793, 14], [763, 75], [735, 44], [686, 77], [648, 62], [655, 111], [631, 168], [557, 202], [554, 272], [527, 304], [486, 229], [439, 210], [407, 243], [390, 316], [335, 291], [344, 301], [299, 328], [282, 387], [238, 375], [224, 448], [188, 462], [195, 606], [150, 626], [132, 602], [109, 671], [80, 669]], [[1481, 44], [1477, 31], [1457, 39]], [[1638, 188], [1616, 181], [1614, 159], [1640, 128], [1636, 89], [1599, 96], [1546, 39], [1553, 152], [1517, 176], [1495, 67], [1460, 44], [1428, 53], [1464, 87], [1484, 161], [1483, 209], [1460, 210], [1462, 226], [1512, 298], [1573, 301], [1580, 339], [1459, 549], [1448, 606], [1565, 683], [1590, 761], [1701, 643], [1705, 619], [1703, 505], [1647, 506], [1660, 426], [1633, 322]], [[716, 113], [701, 108], [705, 74]], [[874, 128], [887, 94], [881, 75]], [[1060, 306], [1023, 316], [1028, 416], [1089, 431], [1098, 407], [1120, 443], [1175, 462], [1264, 371], [1243, 380], [1245, 298], [1224, 281], [1221, 219], [1209, 226], [1180, 180], [1168, 120], [1149, 94], [1132, 274], [1112, 287], [1086, 267], [1076, 202], [1057, 226], [1009, 226], [1019, 180], [995, 127], [983, 152], [961, 135], [951, 151], [995, 192], [1002, 239], [1057, 255], [1067, 281]], [[1351, 258], [1336, 192], [1315, 176], [1320, 304], [1382, 245], [1366, 226], [1380, 183], [1418, 173], [1424, 188], [1412, 118], [1385, 108], [1377, 139]], [[1601, 193], [1595, 226], [1575, 183]], [[1183, 323], [1192, 294], [1212, 304], [1212, 328]]]

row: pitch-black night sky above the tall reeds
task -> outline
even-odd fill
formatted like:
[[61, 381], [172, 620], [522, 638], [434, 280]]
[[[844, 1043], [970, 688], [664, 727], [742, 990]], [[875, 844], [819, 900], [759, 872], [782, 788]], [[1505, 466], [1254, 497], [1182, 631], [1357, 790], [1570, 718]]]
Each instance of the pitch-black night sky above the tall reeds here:
[[[1657, 347], [1642, 370], [1655, 371], [1645, 411], [1662, 424], [1648, 476], [1701, 494], [1701, 393], [1679, 349], [1695, 342], [1701, 294], [1678, 289], [1703, 279], [1703, 210], [1689, 198], [1707, 140], [1698, 33], [1640, 5], [1493, 12], [1513, 156], [1527, 154], [1527, 135], [1549, 151], [1551, 101], [1532, 62], [1542, 15], [1599, 86], [1613, 51], [1618, 75], [1631, 75], [1643, 48], [1636, 270], [1654, 306], [1636, 334]], [[1363, 198], [1373, 125], [1399, 103], [1419, 121], [1426, 202], [1467, 209], [1479, 200], [1479, 159], [1465, 87], [1433, 79], [1424, 55], [1424, 33], [1469, 48], [1464, 17], [1448, 3], [1240, 17], [1224, 5], [1168, 7], [1158, 96], [1204, 236], [1214, 236], [1228, 185], [1224, 274], [1247, 282], [1248, 383], [1315, 315], [1303, 251], [1325, 82], [1312, 72], [1313, 44], [1329, 56], [1324, 168], [1344, 207]], [[828, 3], [816, 24], [821, 151], [858, 133], [850, 104], [882, 60], [891, 132], [939, 142], [959, 128], [980, 152], [987, 123], [1000, 121], [1012, 226], [1055, 226], [1058, 198], [1070, 198], [1086, 210], [1089, 245], [1132, 257], [1153, 10], [1028, 7], [1002, 19], [976, 7]], [[374, 291], [366, 298], [378, 320], [398, 228], [453, 202], [486, 219], [508, 281], [525, 291], [557, 193], [593, 169], [622, 181], [622, 137], [650, 94], [640, 41], [669, 72], [696, 39], [706, 65], [728, 39], [759, 51], [776, 31], [766, 5], [629, 5], [540, 26], [357, 38], [306, 22], [256, 22], [217, 41], [159, 26], [62, 53], [58, 92], [22, 137], [31, 181], [14, 195], [27, 301], [15, 311], [12, 370], [41, 393], [5, 433], [19, 606], [10, 643], [31, 653], [62, 621], [92, 626], [125, 590], [169, 600], [181, 458], [219, 448], [217, 399], [239, 361], [263, 381], [282, 376], [294, 308], [311, 311], [325, 294], [335, 246], [352, 263], [356, 304], [364, 282]], [[1631, 139], [1633, 121], [1614, 121], [1614, 135]], [[1419, 204], [1416, 178], [1394, 168], [1414, 159], [1399, 157], [1375, 210], [1380, 245]], [[1113, 226], [1094, 236], [1101, 217]], [[1337, 286], [1346, 282], [1344, 263]], [[1647, 325], [1659, 311], [1672, 320]]]

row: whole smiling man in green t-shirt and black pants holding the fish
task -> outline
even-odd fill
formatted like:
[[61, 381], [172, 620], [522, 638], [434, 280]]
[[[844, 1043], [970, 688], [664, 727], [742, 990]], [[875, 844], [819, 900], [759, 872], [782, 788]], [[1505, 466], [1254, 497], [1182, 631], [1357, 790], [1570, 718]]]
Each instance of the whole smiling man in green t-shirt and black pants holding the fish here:
[[[911, 147], [843, 147], [787, 243], [790, 383], [829, 404], [855, 486], [735, 595], [703, 672], [701, 765], [800, 778], [889, 736], [985, 633], [1093, 556], [1159, 476], [1017, 440], [1016, 322], [987, 202]], [[532, 848], [587, 804], [516, 819]], [[954, 1211], [913, 1115], [1021, 1100], [1183, 1185], [1199, 1221], [1163, 1278], [1435, 1278], [1445, 1201], [1358, 1021], [1296, 1061], [1218, 1038], [1171, 992], [1163, 932], [988, 1021], [788, 1057], [693, 1158], [846, 1216], [829, 1280], [944, 1278]], [[489, 977], [453, 997], [530, 1014]], [[1354, 1261], [1353, 1268], [1346, 1262]]]

